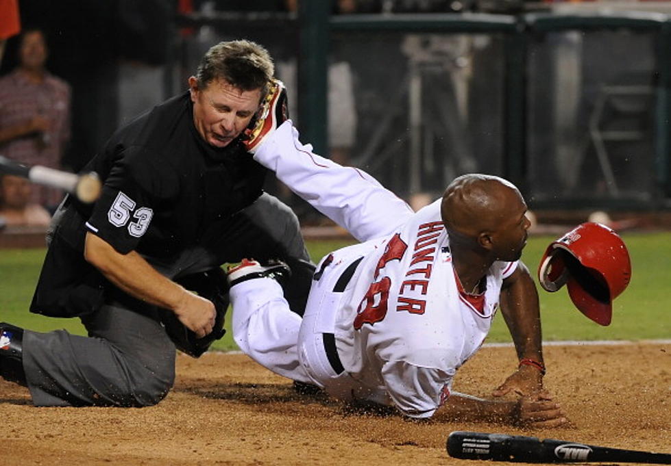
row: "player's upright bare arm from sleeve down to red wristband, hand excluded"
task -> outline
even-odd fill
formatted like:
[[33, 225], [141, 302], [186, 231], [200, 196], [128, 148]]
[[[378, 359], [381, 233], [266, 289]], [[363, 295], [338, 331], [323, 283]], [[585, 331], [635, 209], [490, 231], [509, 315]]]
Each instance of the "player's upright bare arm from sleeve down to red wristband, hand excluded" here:
[[501, 313], [515, 344], [517, 357], [543, 363], [541, 316], [536, 285], [528, 268], [520, 262], [503, 284]]

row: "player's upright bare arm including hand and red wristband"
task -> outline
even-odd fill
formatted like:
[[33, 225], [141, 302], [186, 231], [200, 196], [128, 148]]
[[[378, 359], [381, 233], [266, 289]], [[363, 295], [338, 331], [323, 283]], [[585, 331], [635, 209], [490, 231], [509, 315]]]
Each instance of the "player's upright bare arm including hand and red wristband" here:
[[501, 313], [509, 328], [520, 366], [493, 396], [529, 395], [543, 388], [545, 366], [541, 343], [541, 318], [536, 285], [520, 261], [517, 270], [503, 282]]

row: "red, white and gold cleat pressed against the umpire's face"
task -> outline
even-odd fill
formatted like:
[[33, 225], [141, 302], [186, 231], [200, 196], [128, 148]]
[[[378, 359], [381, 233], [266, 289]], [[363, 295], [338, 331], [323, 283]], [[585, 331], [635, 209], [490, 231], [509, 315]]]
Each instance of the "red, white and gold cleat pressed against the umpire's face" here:
[[273, 79], [268, 95], [263, 100], [260, 114], [253, 127], [245, 129], [242, 138], [243, 146], [249, 153], [256, 153], [261, 144], [267, 140], [283, 122], [289, 120], [289, 110], [286, 103], [286, 88], [279, 79]]

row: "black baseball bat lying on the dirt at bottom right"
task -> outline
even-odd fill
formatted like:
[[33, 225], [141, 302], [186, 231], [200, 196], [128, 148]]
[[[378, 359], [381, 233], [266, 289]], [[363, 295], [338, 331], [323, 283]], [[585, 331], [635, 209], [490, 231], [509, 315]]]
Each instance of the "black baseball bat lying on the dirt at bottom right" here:
[[671, 454], [620, 450], [563, 440], [524, 435], [486, 434], [456, 431], [448, 436], [448, 454], [467, 460], [510, 461], [512, 463], [652, 463], [671, 465]]

